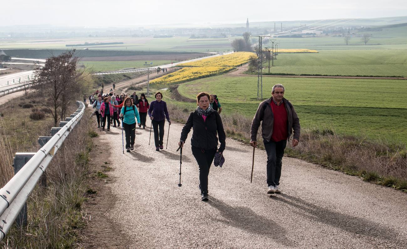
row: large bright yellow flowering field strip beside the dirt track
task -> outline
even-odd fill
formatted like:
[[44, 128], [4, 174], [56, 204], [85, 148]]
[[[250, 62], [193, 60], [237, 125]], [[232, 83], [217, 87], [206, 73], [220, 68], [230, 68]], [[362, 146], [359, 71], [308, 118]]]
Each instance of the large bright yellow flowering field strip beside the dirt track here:
[[249, 61], [252, 52], [236, 52], [229, 55], [221, 55], [200, 61], [193, 61], [179, 65], [183, 67], [171, 74], [167, 74], [150, 81], [151, 84], [173, 84], [192, 81], [232, 70], [236, 66]]

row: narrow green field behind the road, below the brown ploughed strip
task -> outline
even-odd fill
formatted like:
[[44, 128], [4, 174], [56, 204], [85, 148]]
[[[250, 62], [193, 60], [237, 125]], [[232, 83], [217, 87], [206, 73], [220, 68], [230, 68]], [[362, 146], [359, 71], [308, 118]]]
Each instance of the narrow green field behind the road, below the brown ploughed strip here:
[[[145, 61], [81, 61], [79, 65], [85, 65], [95, 72], [105, 72], [123, 68], [143, 68], [144, 62]], [[148, 63], [150, 62], [148, 61]], [[171, 61], [153, 61], [153, 65], [151, 66], [160, 66], [169, 63], [171, 63]]]

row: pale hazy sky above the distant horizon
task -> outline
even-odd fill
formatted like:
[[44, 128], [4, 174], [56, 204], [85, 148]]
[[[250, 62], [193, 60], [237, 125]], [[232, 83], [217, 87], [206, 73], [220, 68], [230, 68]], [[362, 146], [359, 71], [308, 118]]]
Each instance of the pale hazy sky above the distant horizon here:
[[[406, 0], [0, 0], [0, 26], [139, 26], [407, 15]], [[261, 5], [259, 10], [256, 6]], [[8, 15], [7, 15], [7, 14]]]

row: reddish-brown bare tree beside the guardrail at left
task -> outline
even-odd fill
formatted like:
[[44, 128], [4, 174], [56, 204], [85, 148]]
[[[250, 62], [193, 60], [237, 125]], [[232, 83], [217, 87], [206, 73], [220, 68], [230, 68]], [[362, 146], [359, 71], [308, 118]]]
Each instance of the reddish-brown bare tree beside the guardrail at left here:
[[79, 57], [74, 51], [48, 58], [35, 71], [32, 90], [41, 96], [35, 100], [50, 110], [55, 126], [59, 119], [64, 120], [68, 106], [81, 91], [84, 71], [77, 70]]

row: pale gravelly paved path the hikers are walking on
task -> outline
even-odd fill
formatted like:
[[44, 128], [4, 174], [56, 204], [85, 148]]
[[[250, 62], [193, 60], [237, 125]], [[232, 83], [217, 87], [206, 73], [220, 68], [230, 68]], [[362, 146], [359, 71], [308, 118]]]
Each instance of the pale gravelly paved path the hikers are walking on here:
[[190, 136], [177, 186], [183, 125], [171, 125], [168, 149], [157, 152], [147, 124], [124, 155], [120, 129], [101, 137], [109, 141], [118, 200], [107, 216], [127, 231], [129, 248], [407, 248], [405, 193], [284, 157], [283, 193], [270, 197], [265, 151], [256, 150], [250, 184], [252, 148], [227, 139], [225, 165], [212, 164], [203, 202]]

